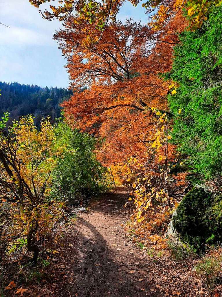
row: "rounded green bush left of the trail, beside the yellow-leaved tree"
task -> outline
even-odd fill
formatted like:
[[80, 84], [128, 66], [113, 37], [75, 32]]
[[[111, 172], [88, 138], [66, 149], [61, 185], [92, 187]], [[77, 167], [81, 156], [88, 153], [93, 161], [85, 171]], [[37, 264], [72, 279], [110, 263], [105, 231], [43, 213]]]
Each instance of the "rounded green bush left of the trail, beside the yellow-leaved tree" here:
[[106, 172], [95, 157], [94, 137], [72, 130], [63, 122], [55, 127], [55, 149], [63, 150], [53, 170], [53, 195], [71, 204], [106, 189]]

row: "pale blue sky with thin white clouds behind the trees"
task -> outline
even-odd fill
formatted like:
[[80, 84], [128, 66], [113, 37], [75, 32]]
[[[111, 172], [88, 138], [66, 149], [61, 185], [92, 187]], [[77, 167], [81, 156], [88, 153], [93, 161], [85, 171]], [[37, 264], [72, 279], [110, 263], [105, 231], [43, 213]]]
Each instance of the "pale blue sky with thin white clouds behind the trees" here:
[[[146, 23], [145, 9], [126, 2], [118, 14]], [[41, 18], [28, 0], [0, 0], [0, 81], [33, 84], [41, 87], [68, 87], [66, 60], [52, 39], [62, 28], [58, 20]]]

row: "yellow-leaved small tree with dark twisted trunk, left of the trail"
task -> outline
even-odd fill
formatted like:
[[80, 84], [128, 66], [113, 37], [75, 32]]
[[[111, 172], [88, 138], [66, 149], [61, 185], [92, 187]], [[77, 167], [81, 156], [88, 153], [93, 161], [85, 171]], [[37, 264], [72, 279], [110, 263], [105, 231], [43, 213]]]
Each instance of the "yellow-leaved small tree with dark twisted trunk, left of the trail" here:
[[62, 214], [63, 203], [49, 200], [51, 172], [59, 151], [53, 150], [54, 129], [49, 118], [40, 130], [33, 116], [24, 116], [6, 129], [0, 122], [0, 244], [12, 251], [27, 247], [35, 263], [41, 239]]

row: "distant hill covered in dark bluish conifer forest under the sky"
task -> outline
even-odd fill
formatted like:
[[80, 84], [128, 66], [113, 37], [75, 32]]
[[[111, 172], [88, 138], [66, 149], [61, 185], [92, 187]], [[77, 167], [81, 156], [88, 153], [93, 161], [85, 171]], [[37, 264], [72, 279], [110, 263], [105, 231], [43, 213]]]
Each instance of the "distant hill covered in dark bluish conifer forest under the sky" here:
[[68, 100], [73, 94], [65, 88], [41, 88], [40, 86], [21, 85], [20, 83], [0, 82], [0, 116], [9, 111], [10, 118], [34, 114], [36, 125], [42, 117], [50, 116], [51, 122], [60, 116], [60, 103]]

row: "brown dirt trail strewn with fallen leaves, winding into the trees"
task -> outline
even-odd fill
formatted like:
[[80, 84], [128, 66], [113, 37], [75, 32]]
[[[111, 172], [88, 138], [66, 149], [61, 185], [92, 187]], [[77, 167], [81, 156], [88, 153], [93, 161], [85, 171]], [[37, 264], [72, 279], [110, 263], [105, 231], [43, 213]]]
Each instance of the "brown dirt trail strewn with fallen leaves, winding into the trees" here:
[[144, 256], [144, 251], [127, 241], [121, 227], [126, 201], [127, 189], [118, 188], [63, 230], [62, 260], [46, 295], [199, 296], [200, 284], [186, 268], [166, 257]]

